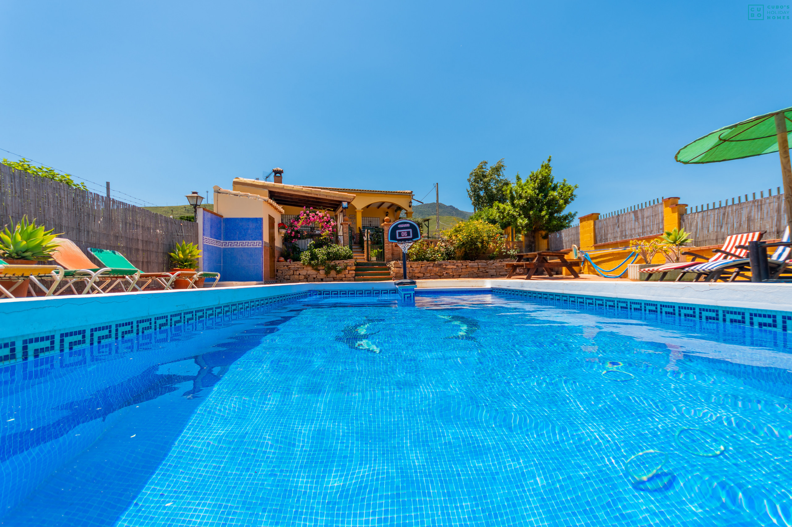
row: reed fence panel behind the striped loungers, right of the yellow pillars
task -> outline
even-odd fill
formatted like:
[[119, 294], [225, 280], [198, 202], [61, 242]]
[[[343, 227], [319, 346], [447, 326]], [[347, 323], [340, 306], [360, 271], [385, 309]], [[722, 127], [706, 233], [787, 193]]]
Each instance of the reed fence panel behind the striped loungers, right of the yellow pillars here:
[[764, 233], [765, 240], [777, 239], [782, 237], [786, 228], [783, 198], [783, 194], [768, 195], [742, 203], [688, 212], [683, 215], [681, 225], [693, 239], [690, 245], [696, 247], [722, 244], [729, 234], [756, 230], [767, 231]]

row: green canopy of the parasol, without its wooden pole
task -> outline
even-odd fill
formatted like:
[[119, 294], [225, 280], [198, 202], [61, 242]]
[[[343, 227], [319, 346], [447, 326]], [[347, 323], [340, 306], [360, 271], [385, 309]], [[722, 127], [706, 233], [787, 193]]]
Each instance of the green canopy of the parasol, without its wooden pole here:
[[792, 108], [784, 108], [722, 127], [683, 146], [674, 158], [680, 163], [717, 163], [779, 151], [775, 115], [784, 112], [786, 135], [792, 131]]

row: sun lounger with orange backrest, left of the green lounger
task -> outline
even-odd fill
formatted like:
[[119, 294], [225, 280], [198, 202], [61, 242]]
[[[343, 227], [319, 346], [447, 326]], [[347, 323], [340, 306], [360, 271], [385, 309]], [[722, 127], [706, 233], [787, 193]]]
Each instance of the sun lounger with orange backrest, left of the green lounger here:
[[[82, 250], [67, 238], [55, 238], [58, 249], [52, 254], [55, 264], [66, 269], [63, 275], [64, 284], [54, 294], [61, 294], [70, 289], [74, 294], [102, 294], [112, 290], [116, 285], [129, 284], [127, 291], [131, 291], [137, 283], [140, 271], [135, 267], [97, 267], [89, 260]], [[74, 282], [83, 282], [85, 289], [78, 293], [74, 289]]]

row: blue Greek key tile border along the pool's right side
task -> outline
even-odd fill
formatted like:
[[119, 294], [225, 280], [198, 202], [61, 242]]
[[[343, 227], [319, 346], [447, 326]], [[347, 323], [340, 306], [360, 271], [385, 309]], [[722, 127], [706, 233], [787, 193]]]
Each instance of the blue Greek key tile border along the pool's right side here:
[[579, 294], [544, 293], [524, 289], [493, 287], [493, 294], [516, 298], [546, 301], [555, 305], [567, 305], [574, 309], [607, 309], [616, 313], [649, 313], [672, 320], [695, 320], [722, 324], [739, 324], [746, 328], [770, 329], [779, 332], [792, 331], [792, 313], [768, 309], [743, 309], [719, 305], [694, 305], [676, 302], [623, 300]]

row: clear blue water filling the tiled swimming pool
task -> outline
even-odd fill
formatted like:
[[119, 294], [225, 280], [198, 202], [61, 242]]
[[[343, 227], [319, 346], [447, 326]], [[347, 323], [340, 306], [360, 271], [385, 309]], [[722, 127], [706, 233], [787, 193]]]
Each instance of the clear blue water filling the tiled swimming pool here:
[[0, 523], [792, 525], [785, 339], [478, 294], [74, 352], [3, 370]]

